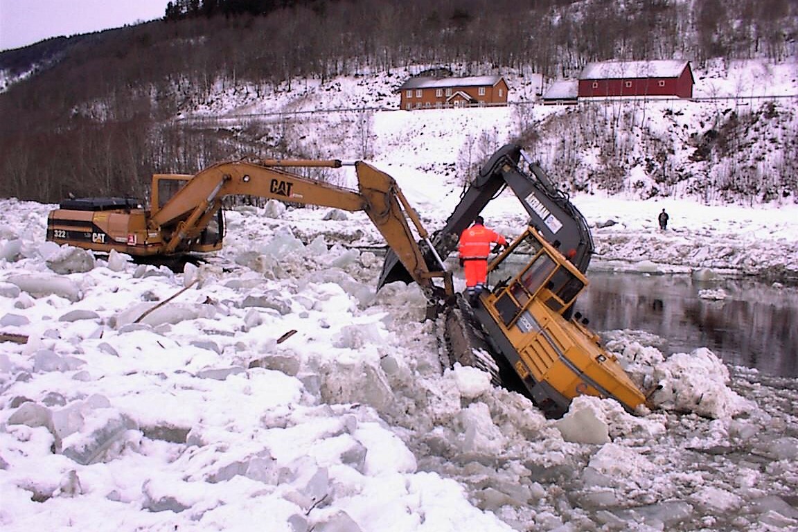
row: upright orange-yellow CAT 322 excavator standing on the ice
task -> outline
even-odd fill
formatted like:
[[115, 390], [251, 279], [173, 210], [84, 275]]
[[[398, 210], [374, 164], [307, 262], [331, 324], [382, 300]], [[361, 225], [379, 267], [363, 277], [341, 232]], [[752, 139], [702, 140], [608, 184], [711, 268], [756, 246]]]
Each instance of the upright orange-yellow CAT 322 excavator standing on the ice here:
[[[344, 166], [354, 166], [358, 190], [296, 173]], [[452, 277], [442, 259], [433, 258], [437, 265], [432, 269], [427, 266], [429, 235], [396, 181], [362, 161], [238, 161], [215, 164], [196, 175], [156, 174], [152, 176], [149, 209], [129, 198], [65, 199], [49, 213], [46, 238], [101, 253], [117, 250], [136, 258], [219, 250], [224, 236], [222, 202], [231, 195], [364, 211], [430, 301], [452, 294]]]

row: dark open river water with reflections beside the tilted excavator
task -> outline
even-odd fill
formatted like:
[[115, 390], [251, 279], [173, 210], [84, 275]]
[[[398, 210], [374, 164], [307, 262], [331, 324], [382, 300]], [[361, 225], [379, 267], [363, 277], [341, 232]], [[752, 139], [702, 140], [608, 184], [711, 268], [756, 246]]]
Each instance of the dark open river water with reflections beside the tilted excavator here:
[[[798, 377], [798, 290], [746, 279], [697, 282], [686, 275], [588, 272], [576, 309], [591, 329], [640, 329], [667, 341], [666, 353], [707, 347], [732, 365]], [[699, 298], [703, 289], [726, 298]]]

